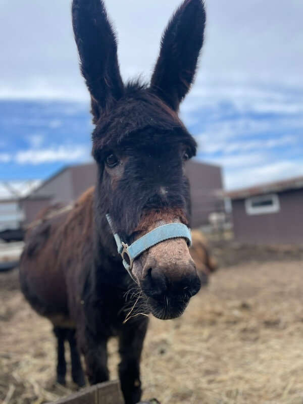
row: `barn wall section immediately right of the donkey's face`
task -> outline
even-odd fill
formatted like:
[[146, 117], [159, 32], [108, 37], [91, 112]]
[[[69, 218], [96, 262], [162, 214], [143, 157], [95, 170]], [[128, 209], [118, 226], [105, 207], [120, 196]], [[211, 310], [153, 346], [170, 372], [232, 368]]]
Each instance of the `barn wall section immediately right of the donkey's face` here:
[[218, 197], [222, 190], [221, 167], [189, 161], [186, 166], [190, 181], [191, 226], [209, 224], [213, 212], [224, 212], [223, 200]]

